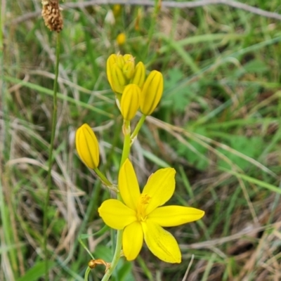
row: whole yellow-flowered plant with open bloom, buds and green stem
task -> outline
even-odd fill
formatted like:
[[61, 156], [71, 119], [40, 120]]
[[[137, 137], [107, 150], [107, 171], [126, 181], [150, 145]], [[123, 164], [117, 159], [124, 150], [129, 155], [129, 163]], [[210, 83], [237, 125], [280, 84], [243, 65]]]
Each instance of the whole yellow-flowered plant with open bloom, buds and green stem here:
[[[143, 241], [158, 259], [166, 263], [181, 263], [178, 243], [164, 227], [179, 226], [204, 216], [204, 211], [192, 207], [163, 206], [175, 191], [175, 169], [155, 171], [141, 192], [129, 159], [131, 145], [145, 117], [152, 114], [162, 98], [162, 73], [152, 70], [146, 76], [145, 65], [142, 62], [135, 65], [132, 55], [112, 54], [107, 59], [107, 79], [124, 119], [124, 146], [117, 185], [110, 183], [98, 169], [98, 140], [88, 124], [77, 129], [76, 148], [81, 161], [96, 172], [107, 188], [116, 192], [115, 198], [105, 200], [100, 205], [98, 214], [107, 226], [117, 230], [117, 241], [112, 261], [91, 260], [85, 280], [88, 280], [91, 268], [98, 264], [105, 266], [102, 280], [109, 280], [122, 256], [128, 261], [136, 259]], [[131, 120], [136, 117], [138, 110], [142, 117], [131, 132]]]

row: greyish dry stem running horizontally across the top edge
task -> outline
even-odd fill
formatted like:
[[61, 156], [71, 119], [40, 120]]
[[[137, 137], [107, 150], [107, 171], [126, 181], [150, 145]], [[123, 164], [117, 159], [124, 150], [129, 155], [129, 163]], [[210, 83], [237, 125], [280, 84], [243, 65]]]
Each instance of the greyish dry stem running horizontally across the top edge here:
[[[84, 1], [78, 3], [67, 3], [62, 5], [64, 10], [69, 8], [85, 8], [88, 6], [94, 5], [105, 5], [105, 4], [123, 4], [123, 5], [139, 5], [139, 6], [154, 6], [155, 1], [151, 0], [92, 0], [92, 1]], [[275, 20], [281, 20], [281, 15], [278, 13], [272, 13], [268, 11], [264, 11], [260, 8], [256, 8], [247, 4], [240, 3], [238, 1], [231, 0], [200, 0], [200, 1], [185, 1], [185, 2], [176, 2], [176, 1], [162, 1], [161, 6], [167, 8], [197, 8], [207, 5], [226, 5], [233, 8], [238, 8], [244, 11], [248, 11], [249, 13], [254, 13], [256, 15], [261, 15], [265, 18], [274, 18]], [[32, 13], [26, 13], [14, 20], [11, 20], [11, 25], [16, 25], [20, 22], [24, 22], [25, 20], [30, 20], [32, 18], [36, 18], [39, 16], [41, 11], [36, 11]]]

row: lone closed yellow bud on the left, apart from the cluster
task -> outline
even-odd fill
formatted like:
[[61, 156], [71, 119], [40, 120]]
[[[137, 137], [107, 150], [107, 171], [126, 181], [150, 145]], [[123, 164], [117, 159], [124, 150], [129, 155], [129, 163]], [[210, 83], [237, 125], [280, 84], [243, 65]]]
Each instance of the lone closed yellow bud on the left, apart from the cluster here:
[[88, 124], [77, 129], [75, 143], [82, 162], [90, 169], [96, 169], [100, 162], [100, 150], [96, 135]]

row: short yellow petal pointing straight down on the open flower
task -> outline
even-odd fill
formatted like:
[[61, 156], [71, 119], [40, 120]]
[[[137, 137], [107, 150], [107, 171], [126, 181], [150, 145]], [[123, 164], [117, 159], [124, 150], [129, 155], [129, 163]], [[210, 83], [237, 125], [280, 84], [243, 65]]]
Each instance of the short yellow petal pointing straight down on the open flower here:
[[136, 259], [143, 246], [143, 228], [139, 221], [126, 226], [123, 232], [123, 252], [128, 261]]

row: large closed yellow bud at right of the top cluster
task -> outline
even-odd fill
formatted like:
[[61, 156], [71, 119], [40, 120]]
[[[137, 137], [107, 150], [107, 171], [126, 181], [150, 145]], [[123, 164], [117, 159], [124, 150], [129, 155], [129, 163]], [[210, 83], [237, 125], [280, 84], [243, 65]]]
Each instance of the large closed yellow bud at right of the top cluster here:
[[152, 70], [143, 84], [141, 91], [141, 112], [151, 115], [162, 98], [163, 76], [157, 70]]

